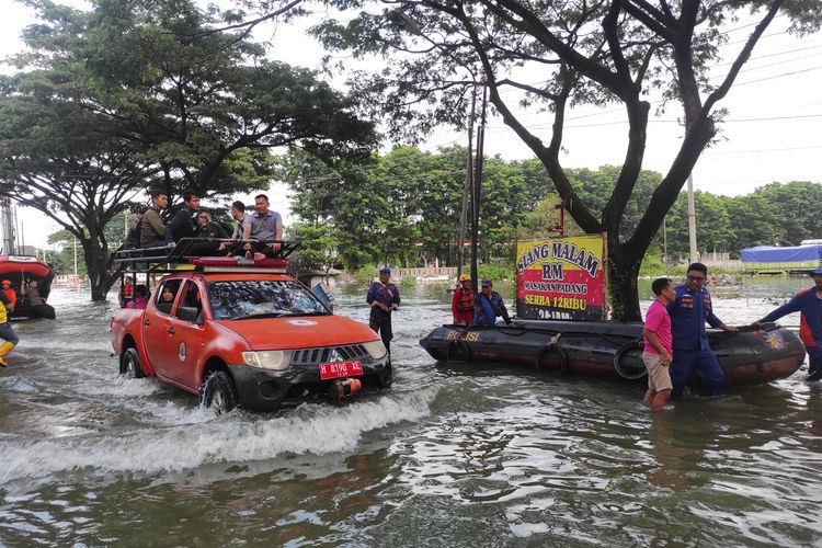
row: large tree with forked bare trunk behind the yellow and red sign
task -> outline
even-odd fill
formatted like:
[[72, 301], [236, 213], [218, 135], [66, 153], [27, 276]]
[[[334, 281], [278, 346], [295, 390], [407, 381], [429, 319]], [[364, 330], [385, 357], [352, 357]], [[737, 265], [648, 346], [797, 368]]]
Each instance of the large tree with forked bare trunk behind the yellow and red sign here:
[[[539, 159], [566, 207], [586, 232], [607, 232], [608, 279], [615, 318], [640, 319], [637, 274], [663, 218], [700, 153], [720, 130], [721, 101], [754, 46], [777, 15], [791, 31], [815, 32], [820, 0], [330, 0], [346, 10], [346, 23], [329, 19], [315, 34], [329, 49], [387, 59], [379, 70], [355, 75], [354, 90], [387, 116], [396, 138], [419, 138], [436, 124], [461, 127], [470, 94], [487, 88], [504, 123]], [[385, 7], [385, 12], [379, 8]], [[351, 12], [356, 12], [352, 18]], [[722, 25], [752, 13], [757, 23], [728, 73], [707, 78]], [[524, 93], [504, 94], [517, 90]], [[661, 93], [683, 111], [684, 136], [673, 161], [629, 233], [623, 218], [642, 170], [651, 103]], [[517, 117], [512, 102], [539, 105], [553, 115], [544, 142]], [[614, 173], [602, 213], [574, 189], [560, 161], [566, 112], [579, 104], [619, 104], [628, 132], [625, 161]]]

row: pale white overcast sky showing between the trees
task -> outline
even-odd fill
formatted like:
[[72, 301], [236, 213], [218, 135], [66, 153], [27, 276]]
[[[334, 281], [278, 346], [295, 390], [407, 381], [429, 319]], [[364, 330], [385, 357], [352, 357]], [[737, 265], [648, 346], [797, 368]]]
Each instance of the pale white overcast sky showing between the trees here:
[[[9, 0], [3, 0], [3, 3]], [[61, 3], [82, 5], [82, 0]], [[31, 11], [18, 3], [4, 5], [0, 58], [23, 48], [20, 33], [33, 22]], [[754, 50], [729, 95], [721, 102], [728, 110], [720, 139], [705, 151], [693, 172], [694, 189], [713, 194], [740, 195], [772, 182], [822, 182], [822, 33], [797, 38], [785, 32], [787, 22], [777, 18]], [[723, 76], [730, 55], [738, 50], [750, 33], [750, 24], [741, 22], [728, 28], [728, 55], [711, 69], [711, 76]], [[262, 34], [261, 34], [262, 33]], [[266, 34], [267, 33], [267, 34]], [[305, 35], [299, 24], [269, 26], [258, 38], [274, 36], [271, 57], [293, 65], [317, 68], [323, 49]], [[298, 44], [298, 47], [295, 46]], [[282, 46], [281, 46], [282, 45]], [[0, 65], [0, 72], [12, 72]], [[534, 80], [538, 80], [535, 76]], [[654, 102], [652, 111], [660, 104]], [[538, 136], [548, 138], [551, 118], [534, 109], [520, 111], [521, 119]], [[655, 114], [649, 124], [649, 138], [643, 168], [665, 173], [675, 156], [682, 128], [676, 107]], [[619, 165], [625, 155], [627, 123], [618, 106], [576, 109], [567, 115], [564, 156], [567, 168], [597, 169]], [[435, 151], [453, 144], [465, 146], [467, 137], [448, 128], [436, 129], [421, 145]], [[489, 119], [486, 130], [486, 155], [500, 155], [505, 160], [533, 158], [527, 147], [499, 117]], [[269, 190], [272, 208], [289, 216], [287, 190], [274, 183]], [[252, 203], [250, 196], [237, 196]], [[215, 206], [204, 202], [205, 206]], [[56, 222], [43, 215], [19, 208], [18, 217], [26, 244], [46, 247], [49, 233], [58, 230]], [[819, 235], [822, 237], [822, 235]]]

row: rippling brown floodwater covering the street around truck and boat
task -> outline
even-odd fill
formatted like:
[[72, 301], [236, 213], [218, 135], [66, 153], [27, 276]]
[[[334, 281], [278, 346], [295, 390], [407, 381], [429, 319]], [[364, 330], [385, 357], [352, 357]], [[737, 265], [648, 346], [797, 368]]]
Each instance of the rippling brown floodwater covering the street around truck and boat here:
[[[713, 288], [716, 310], [751, 322], [807, 285]], [[416, 341], [449, 321], [445, 286], [403, 294], [390, 392], [214, 416], [119, 378], [115, 305], [56, 290], [59, 320], [18, 323], [0, 370], [0, 544], [822, 544], [822, 386], [806, 366], [651, 413], [641, 385], [437, 364]], [[366, 321], [363, 295], [338, 293], [340, 312]]]

